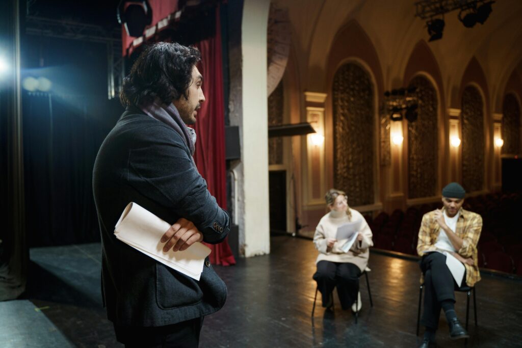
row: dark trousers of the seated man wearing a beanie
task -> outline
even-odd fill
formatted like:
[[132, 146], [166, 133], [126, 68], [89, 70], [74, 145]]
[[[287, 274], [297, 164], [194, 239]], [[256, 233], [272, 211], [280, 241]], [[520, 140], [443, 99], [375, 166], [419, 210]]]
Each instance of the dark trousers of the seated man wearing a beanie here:
[[[441, 315], [441, 303], [445, 300], [455, 302], [455, 290], [457, 282], [446, 266], [446, 256], [441, 253], [429, 253], [420, 261], [424, 274], [424, 312], [422, 325], [436, 330], [438, 318]], [[462, 279], [462, 285], [466, 284], [466, 272]]]

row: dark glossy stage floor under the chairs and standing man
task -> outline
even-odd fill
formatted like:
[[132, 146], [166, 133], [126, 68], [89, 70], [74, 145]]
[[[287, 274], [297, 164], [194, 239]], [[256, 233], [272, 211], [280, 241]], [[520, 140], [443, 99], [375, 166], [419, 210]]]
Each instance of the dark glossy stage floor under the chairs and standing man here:
[[[271, 239], [268, 256], [216, 267], [227, 283], [228, 300], [205, 318], [200, 347], [418, 346], [416, 262], [371, 254], [374, 306], [362, 281], [356, 325], [352, 313], [340, 309], [337, 295], [333, 313], [319, 302], [311, 318], [316, 255], [311, 241], [281, 236]], [[34, 248], [30, 267], [23, 299], [0, 303], [0, 347], [122, 347], [101, 305], [99, 244]], [[473, 326], [471, 307], [468, 347], [522, 347], [521, 285], [483, 274], [477, 285], [479, 326]], [[464, 321], [465, 294], [457, 294], [456, 309]], [[449, 339], [443, 315], [440, 327], [438, 347], [465, 346]]]

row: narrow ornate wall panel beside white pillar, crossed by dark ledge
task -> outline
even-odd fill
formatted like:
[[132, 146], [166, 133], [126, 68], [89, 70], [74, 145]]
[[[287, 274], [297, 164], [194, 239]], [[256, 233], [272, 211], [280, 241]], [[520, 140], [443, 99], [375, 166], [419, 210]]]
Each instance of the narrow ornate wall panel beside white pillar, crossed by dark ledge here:
[[[268, 97], [268, 125], [283, 124], [283, 83], [279, 82]], [[268, 164], [283, 164], [283, 138], [268, 139]]]

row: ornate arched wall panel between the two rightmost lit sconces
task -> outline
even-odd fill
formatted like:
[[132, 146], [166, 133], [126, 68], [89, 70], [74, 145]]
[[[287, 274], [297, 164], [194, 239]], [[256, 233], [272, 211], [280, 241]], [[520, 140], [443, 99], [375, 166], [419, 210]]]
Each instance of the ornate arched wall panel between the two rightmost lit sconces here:
[[462, 186], [466, 191], [484, 188], [484, 114], [482, 96], [468, 86], [462, 93]]

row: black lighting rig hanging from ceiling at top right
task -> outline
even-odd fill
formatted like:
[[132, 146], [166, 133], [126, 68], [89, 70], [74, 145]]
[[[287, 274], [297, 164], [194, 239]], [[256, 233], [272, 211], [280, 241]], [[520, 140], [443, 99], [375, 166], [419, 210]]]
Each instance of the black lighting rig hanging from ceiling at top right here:
[[415, 3], [415, 16], [426, 19], [430, 39], [442, 39], [444, 14], [459, 10], [457, 18], [466, 28], [473, 28], [477, 23], [484, 24], [493, 9], [494, 1], [488, 0], [421, 0]]

